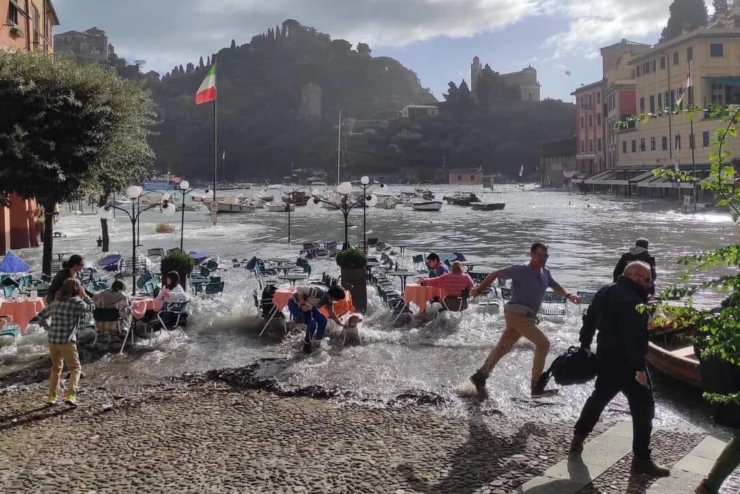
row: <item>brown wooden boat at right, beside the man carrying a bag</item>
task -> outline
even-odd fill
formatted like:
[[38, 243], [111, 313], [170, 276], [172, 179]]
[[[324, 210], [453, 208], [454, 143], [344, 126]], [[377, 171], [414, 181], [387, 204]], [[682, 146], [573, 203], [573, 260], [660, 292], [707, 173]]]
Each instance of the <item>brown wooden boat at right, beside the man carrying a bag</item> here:
[[659, 373], [693, 388], [702, 388], [702, 369], [687, 328], [653, 328], [647, 348], [647, 362]]

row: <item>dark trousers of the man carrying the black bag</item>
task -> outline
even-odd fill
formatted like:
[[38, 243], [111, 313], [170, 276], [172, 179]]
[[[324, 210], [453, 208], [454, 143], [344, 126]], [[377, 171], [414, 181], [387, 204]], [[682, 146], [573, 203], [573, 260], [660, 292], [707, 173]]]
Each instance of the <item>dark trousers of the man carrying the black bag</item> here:
[[653, 432], [653, 418], [655, 417], [655, 401], [650, 376], [647, 378], [647, 385], [645, 387], [637, 382], [634, 371], [615, 368], [612, 365], [599, 365], [596, 386], [581, 410], [581, 416], [576, 422], [576, 434], [587, 436], [591, 433], [596, 422], [599, 422], [599, 417], [606, 405], [614, 399], [616, 393], [621, 392], [630, 404], [632, 450], [635, 456], [648, 458], [650, 456], [650, 434]]

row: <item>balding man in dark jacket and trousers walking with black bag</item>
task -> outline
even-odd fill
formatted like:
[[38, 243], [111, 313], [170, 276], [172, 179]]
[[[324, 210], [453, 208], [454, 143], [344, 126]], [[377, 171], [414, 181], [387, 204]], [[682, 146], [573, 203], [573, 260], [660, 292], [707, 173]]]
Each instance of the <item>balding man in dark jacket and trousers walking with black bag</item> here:
[[650, 459], [655, 402], [645, 368], [648, 314], [636, 309], [647, 302], [650, 276], [650, 265], [641, 261], [629, 263], [616, 283], [596, 293], [583, 318], [582, 348], [591, 351], [593, 334], [599, 329], [596, 386], [576, 422], [571, 454], [582, 452], [583, 441], [599, 422], [604, 408], [621, 391], [627, 397], [632, 416], [632, 472], [669, 476], [670, 470]]

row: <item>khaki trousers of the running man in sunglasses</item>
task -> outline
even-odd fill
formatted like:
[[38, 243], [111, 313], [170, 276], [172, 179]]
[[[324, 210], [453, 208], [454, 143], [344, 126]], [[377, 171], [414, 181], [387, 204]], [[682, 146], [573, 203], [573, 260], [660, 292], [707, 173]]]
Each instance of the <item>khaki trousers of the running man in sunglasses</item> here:
[[550, 351], [550, 340], [542, 333], [541, 329], [537, 328], [535, 319], [528, 317], [526, 314], [504, 311], [504, 320], [506, 322], [504, 334], [501, 335], [501, 339], [499, 339], [496, 347], [491, 350], [491, 353], [488, 353], [488, 358], [485, 359], [480, 372], [484, 376], [488, 376], [502, 356], [509, 353], [514, 344], [519, 341], [519, 338], [524, 336], [535, 345], [534, 362], [532, 362], [532, 385], [536, 385], [539, 377], [542, 376], [542, 371], [545, 370], [545, 359], [548, 356], [548, 351]]

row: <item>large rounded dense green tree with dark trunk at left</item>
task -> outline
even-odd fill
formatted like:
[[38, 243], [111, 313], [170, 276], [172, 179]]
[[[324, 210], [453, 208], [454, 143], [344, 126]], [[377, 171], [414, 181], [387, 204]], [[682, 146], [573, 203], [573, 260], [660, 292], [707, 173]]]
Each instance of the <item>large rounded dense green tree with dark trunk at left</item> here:
[[[83, 190], [144, 175], [152, 99], [140, 84], [94, 64], [44, 53], [0, 52], [0, 188], [36, 197], [47, 215]], [[53, 221], [44, 232], [49, 274]]]

